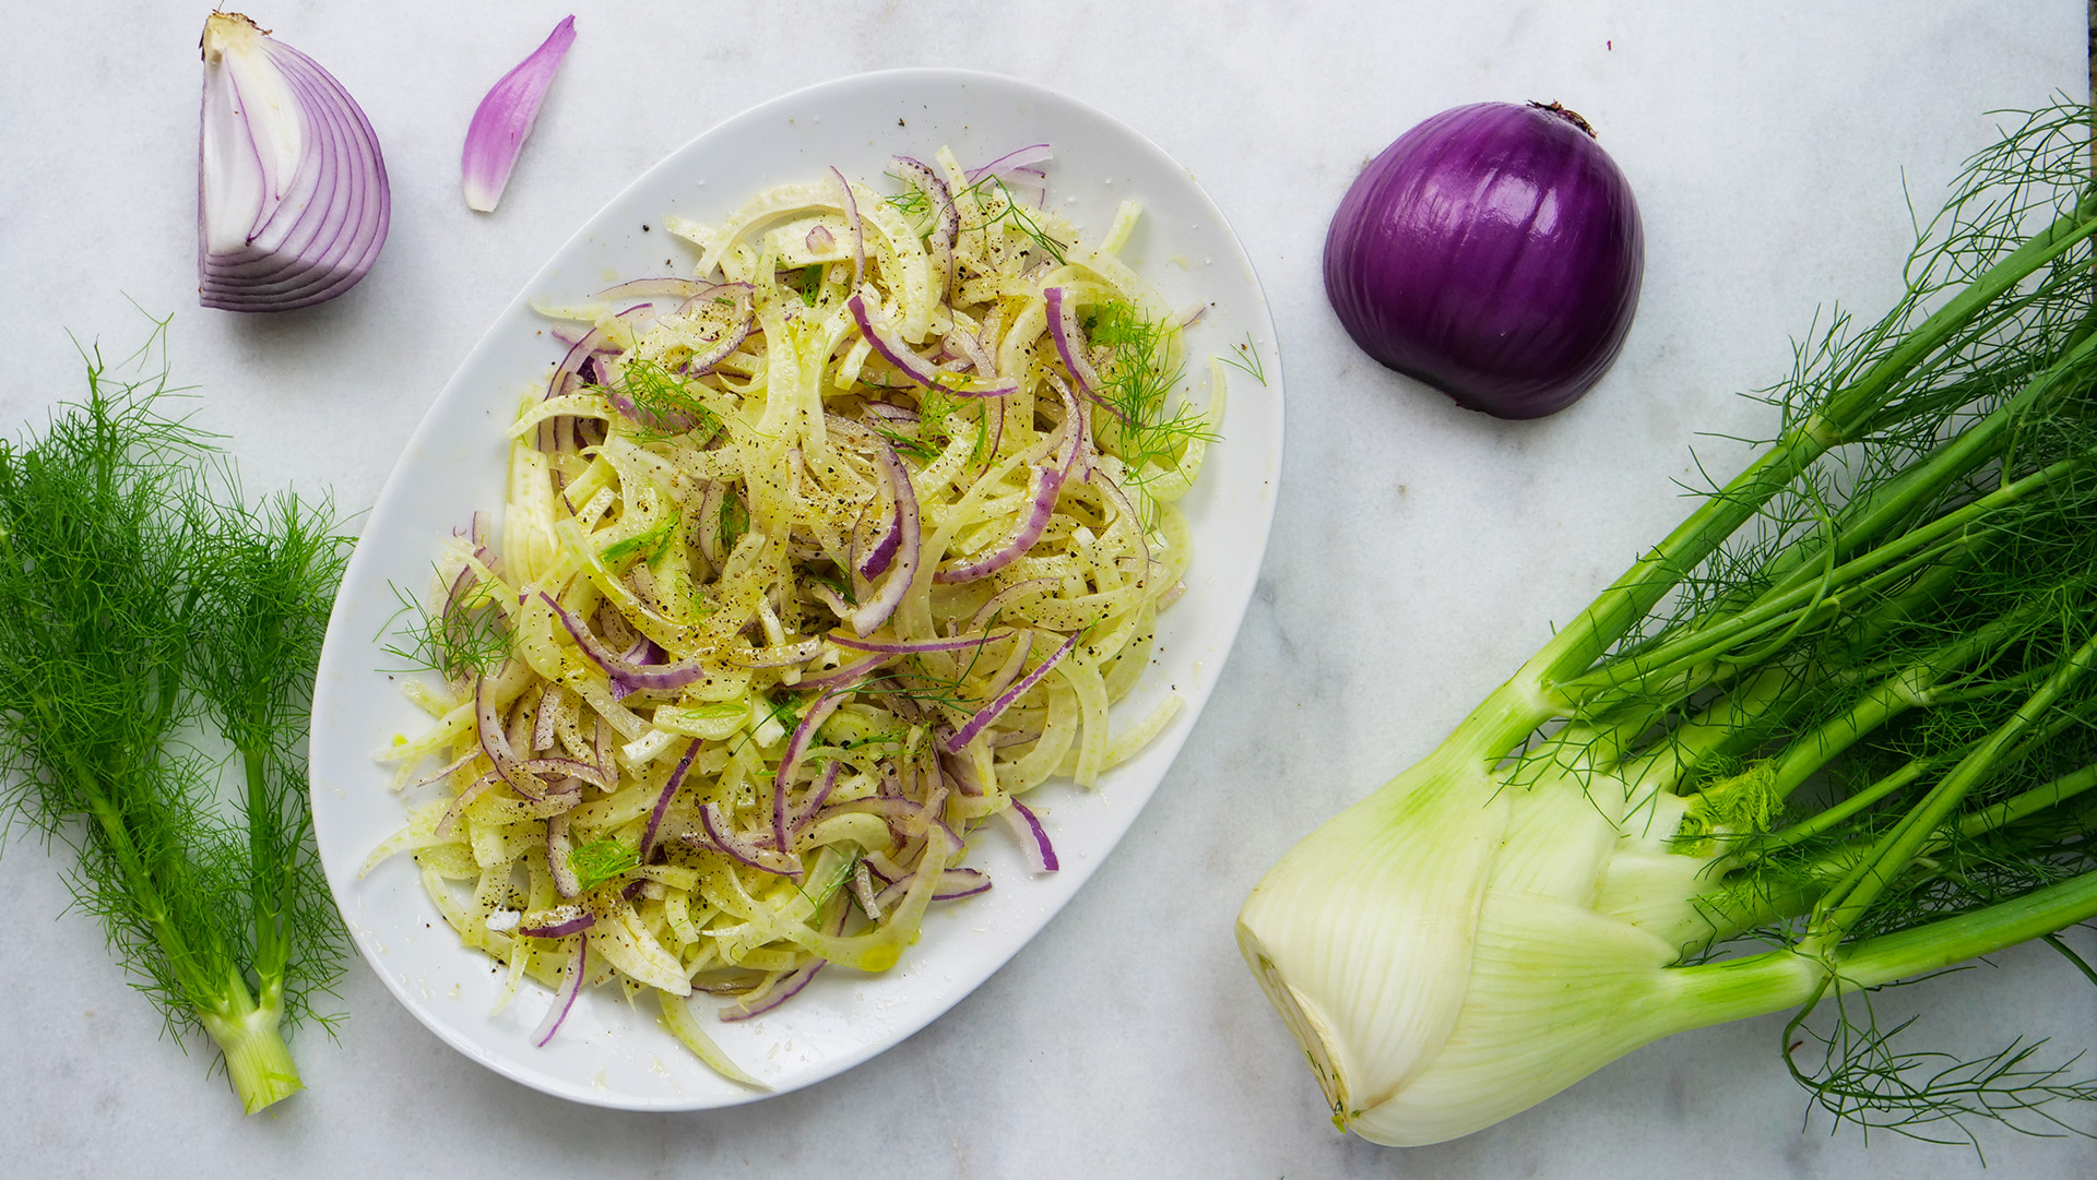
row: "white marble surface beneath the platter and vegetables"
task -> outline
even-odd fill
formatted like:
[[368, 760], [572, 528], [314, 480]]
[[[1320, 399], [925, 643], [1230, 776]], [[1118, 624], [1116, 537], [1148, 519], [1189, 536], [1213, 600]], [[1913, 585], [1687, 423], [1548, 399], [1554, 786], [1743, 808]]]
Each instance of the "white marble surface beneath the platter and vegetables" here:
[[[80, 392], [65, 333], [124, 350], [174, 310], [174, 369], [258, 486], [371, 501], [493, 312], [646, 163], [784, 90], [885, 65], [1057, 86], [1174, 153], [1223, 205], [1275, 304], [1290, 440], [1275, 541], [1229, 671], [1128, 843], [1048, 931], [948, 1017], [822, 1086], [702, 1115], [572, 1107], [438, 1044], [350, 964], [338, 1042], [304, 1033], [310, 1092], [235, 1115], [208, 1056], [65, 914], [61, 866], [15, 832], [0, 943], [0, 1144], [15, 1176], [1965, 1176], [1971, 1151], [1829, 1136], [1776, 1021], [1646, 1048], [1466, 1140], [1338, 1136], [1231, 943], [1296, 836], [1434, 740], [1682, 503], [1699, 432], [1753, 434], [1732, 394], [1789, 363], [1816, 306], [1894, 291], [1917, 203], [1996, 107], [2087, 92], [2084, 8], [1657, 2], [847, 6], [623, 4], [577, 48], [499, 214], [466, 212], [457, 149], [482, 88], [566, 6], [279, 2], [254, 13], [363, 101], [394, 224], [377, 270], [315, 312], [193, 308], [201, 8], [96, 17], [6, 0], [0, 71], [0, 430]], [[1753, 8], [1730, 10], [1730, 8]], [[417, 15], [438, 13], [438, 15]], [[1420, 117], [1560, 99], [1646, 216], [1638, 325], [1610, 377], [1541, 423], [1460, 413], [1346, 342], [1325, 218]], [[2084, 939], [2087, 941], [2087, 939]], [[1921, 998], [1921, 996], [1919, 996]], [[2013, 952], [1929, 987], [1927, 1029], [2089, 1044], [2097, 993]], [[2089, 1113], [2076, 1126], [2091, 1128]], [[1994, 1176], [2087, 1176], [2097, 1144], [1988, 1134]]]

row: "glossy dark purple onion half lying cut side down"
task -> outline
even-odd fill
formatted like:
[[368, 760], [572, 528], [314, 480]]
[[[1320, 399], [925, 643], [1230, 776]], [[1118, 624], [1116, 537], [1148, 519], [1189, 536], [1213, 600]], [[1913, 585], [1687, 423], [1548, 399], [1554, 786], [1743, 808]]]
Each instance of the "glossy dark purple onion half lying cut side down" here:
[[1629, 182], [1556, 105], [1426, 119], [1355, 178], [1325, 235], [1325, 298], [1355, 344], [1508, 419], [1560, 411], [1602, 377], [1644, 268]]

